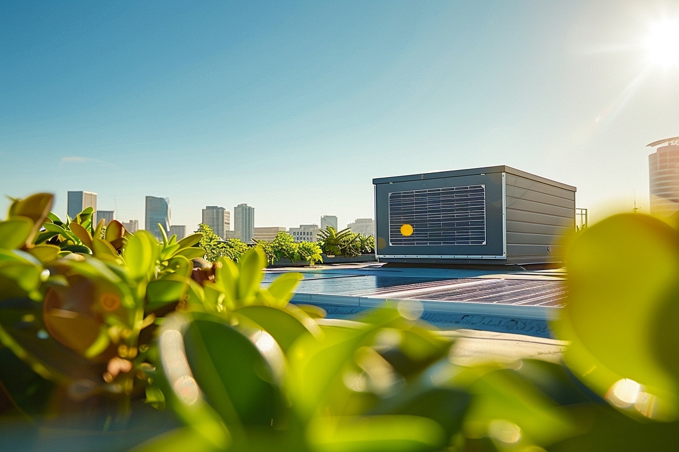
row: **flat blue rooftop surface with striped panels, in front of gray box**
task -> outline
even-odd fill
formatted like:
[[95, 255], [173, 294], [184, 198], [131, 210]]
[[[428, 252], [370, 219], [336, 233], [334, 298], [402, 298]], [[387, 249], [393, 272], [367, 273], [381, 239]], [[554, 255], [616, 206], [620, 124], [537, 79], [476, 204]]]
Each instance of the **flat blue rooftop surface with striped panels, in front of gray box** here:
[[300, 272], [292, 302], [345, 319], [369, 308], [392, 306], [441, 329], [479, 329], [550, 337], [548, 321], [564, 305], [564, 270], [394, 268], [384, 264], [269, 269], [264, 282]]

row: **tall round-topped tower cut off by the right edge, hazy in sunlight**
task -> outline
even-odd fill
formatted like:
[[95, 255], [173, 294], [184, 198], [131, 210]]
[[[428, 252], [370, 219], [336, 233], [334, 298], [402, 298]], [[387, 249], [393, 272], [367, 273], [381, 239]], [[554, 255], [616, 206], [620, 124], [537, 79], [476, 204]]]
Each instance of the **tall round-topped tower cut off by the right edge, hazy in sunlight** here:
[[679, 136], [647, 144], [658, 146], [648, 156], [650, 213], [661, 217], [679, 211]]

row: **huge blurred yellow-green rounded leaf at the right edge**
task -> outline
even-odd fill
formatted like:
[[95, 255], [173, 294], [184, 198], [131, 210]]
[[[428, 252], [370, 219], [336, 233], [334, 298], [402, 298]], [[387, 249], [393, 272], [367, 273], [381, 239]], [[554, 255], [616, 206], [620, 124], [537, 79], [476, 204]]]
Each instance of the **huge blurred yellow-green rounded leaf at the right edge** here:
[[679, 279], [677, 231], [648, 215], [615, 215], [576, 236], [566, 259], [568, 298], [553, 325], [571, 341], [566, 364], [601, 396], [615, 396], [616, 384], [643, 385], [659, 400], [650, 417], [679, 415], [679, 381], [652, 346]]

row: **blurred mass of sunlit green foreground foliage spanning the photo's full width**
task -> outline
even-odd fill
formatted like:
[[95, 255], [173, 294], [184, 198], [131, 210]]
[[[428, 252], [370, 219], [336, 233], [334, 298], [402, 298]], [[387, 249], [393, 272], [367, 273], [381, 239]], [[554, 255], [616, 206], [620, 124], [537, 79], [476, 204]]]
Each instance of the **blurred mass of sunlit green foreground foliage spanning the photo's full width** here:
[[[20, 358], [65, 397], [116, 398], [122, 410], [145, 398], [185, 422], [137, 450], [657, 451], [679, 442], [679, 232], [655, 218], [617, 215], [572, 239], [568, 304], [553, 323], [571, 342], [565, 365], [463, 366], [409, 304], [355, 322], [289, 304], [301, 276], [262, 283], [263, 247], [210, 264], [191, 262], [204, 252], [192, 247], [197, 234], [158, 243], [138, 231], [120, 249], [90, 237], [81, 253], [36, 245], [51, 203], [15, 201], [0, 222], [0, 340], [10, 363]], [[59, 243], [78, 245], [62, 229]], [[50, 387], [21, 392], [12, 373], [0, 378], [8, 400], [41, 412], [31, 394]]]

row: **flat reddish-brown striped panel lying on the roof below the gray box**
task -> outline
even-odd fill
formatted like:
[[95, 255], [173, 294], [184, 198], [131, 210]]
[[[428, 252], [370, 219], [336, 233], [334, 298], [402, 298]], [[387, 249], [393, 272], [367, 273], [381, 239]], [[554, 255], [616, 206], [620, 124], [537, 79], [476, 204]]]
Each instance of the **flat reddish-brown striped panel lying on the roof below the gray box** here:
[[457, 279], [377, 289], [363, 296], [559, 307], [566, 288], [560, 281]]

